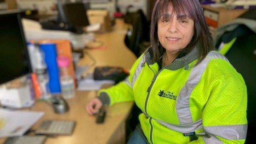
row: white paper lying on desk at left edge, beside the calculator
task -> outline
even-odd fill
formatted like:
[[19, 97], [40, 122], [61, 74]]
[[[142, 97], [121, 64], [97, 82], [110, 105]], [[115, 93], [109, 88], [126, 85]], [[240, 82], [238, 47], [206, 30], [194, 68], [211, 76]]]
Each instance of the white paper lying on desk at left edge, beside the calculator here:
[[0, 108], [0, 137], [22, 136], [44, 112], [11, 111]]

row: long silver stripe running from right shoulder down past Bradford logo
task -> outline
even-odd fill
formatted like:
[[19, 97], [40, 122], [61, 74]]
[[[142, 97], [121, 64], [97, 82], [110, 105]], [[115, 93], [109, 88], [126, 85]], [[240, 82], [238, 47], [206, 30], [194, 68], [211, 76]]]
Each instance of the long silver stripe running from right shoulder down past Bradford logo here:
[[192, 69], [186, 84], [180, 90], [178, 100], [176, 102], [176, 112], [180, 124], [189, 124], [193, 122], [189, 107], [190, 94], [194, 87], [198, 84], [206, 66], [208, 65], [212, 58], [221, 58], [227, 60], [224, 56], [217, 52], [210, 52], [206, 56], [206, 58], [202, 62], [200, 62], [200, 64], [198, 64]]

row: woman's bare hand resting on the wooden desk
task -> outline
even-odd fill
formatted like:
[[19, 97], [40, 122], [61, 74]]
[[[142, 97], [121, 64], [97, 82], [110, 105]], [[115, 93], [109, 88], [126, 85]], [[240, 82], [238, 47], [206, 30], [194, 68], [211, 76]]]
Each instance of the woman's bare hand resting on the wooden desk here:
[[96, 114], [99, 109], [102, 107], [102, 102], [100, 101], [99, 98], [92, 98], [90, 102], [88, 102], [86, 106], [86, 110], [88, 114], [93, 115]]

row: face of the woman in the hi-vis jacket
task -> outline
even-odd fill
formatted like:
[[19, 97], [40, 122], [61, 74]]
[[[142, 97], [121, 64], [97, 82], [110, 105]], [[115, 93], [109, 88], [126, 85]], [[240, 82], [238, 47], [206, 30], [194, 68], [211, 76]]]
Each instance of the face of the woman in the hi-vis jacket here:
[[194, 20], [182, 14], [163, 14], [158, 20], [158, 39], [169, 52], [179, 52], [185, 48], [194, 34]]

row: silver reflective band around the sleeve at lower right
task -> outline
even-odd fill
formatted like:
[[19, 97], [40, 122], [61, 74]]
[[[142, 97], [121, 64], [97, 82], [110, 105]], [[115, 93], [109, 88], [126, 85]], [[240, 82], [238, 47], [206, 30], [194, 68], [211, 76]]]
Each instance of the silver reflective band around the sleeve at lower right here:
[[227, 140], [246, 139], [247, 124], [233, 126], [204, 126], [204, 132], [220, 136]]

